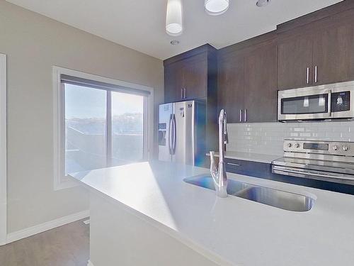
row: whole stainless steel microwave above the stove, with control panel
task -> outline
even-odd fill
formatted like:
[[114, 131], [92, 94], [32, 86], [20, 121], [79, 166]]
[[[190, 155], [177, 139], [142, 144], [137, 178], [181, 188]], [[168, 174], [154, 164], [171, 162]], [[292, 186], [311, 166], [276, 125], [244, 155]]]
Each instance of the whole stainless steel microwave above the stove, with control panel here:
[[278, 92], [278, 121], [354, 118], [354, 81]]

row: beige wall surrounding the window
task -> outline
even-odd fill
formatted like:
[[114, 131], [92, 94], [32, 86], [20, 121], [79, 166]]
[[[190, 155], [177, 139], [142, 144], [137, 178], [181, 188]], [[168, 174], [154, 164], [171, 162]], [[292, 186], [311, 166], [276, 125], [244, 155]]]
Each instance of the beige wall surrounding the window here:
[[11, 233], [89, 206], [88, 195], [81, 188], [53, 191], [52, 66], [154, 87], [155, 103], [160, 104], [163, 65], [154, 57], [4, 0], [0, 0], [0, 52], [8, 55]]

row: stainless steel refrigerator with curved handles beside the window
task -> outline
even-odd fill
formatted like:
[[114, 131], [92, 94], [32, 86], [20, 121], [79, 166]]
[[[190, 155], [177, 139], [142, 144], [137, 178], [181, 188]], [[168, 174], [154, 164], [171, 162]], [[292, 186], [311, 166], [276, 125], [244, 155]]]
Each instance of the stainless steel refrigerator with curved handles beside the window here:
[[178, 101], [159, 106], [159, 160], [203, 166], [205, 101]]

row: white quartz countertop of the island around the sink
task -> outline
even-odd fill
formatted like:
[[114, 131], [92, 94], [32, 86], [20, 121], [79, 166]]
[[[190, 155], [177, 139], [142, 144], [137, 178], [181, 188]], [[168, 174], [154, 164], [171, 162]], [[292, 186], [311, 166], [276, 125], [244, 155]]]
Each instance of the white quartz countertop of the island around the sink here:
[[71, 175], [219, 265], [354, 265], [354, 196], [228, 173], [316, 199], [310, 211], [286, 211], [183, 182], [204, 173], [156, 161]]

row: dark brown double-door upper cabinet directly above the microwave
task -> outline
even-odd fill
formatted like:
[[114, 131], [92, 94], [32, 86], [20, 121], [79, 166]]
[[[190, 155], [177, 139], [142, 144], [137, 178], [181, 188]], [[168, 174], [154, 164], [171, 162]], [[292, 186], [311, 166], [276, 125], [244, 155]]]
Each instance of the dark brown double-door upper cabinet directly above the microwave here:
[[354, 79], [353, 7], [343, 2], [278, 26], [278, 89]]

